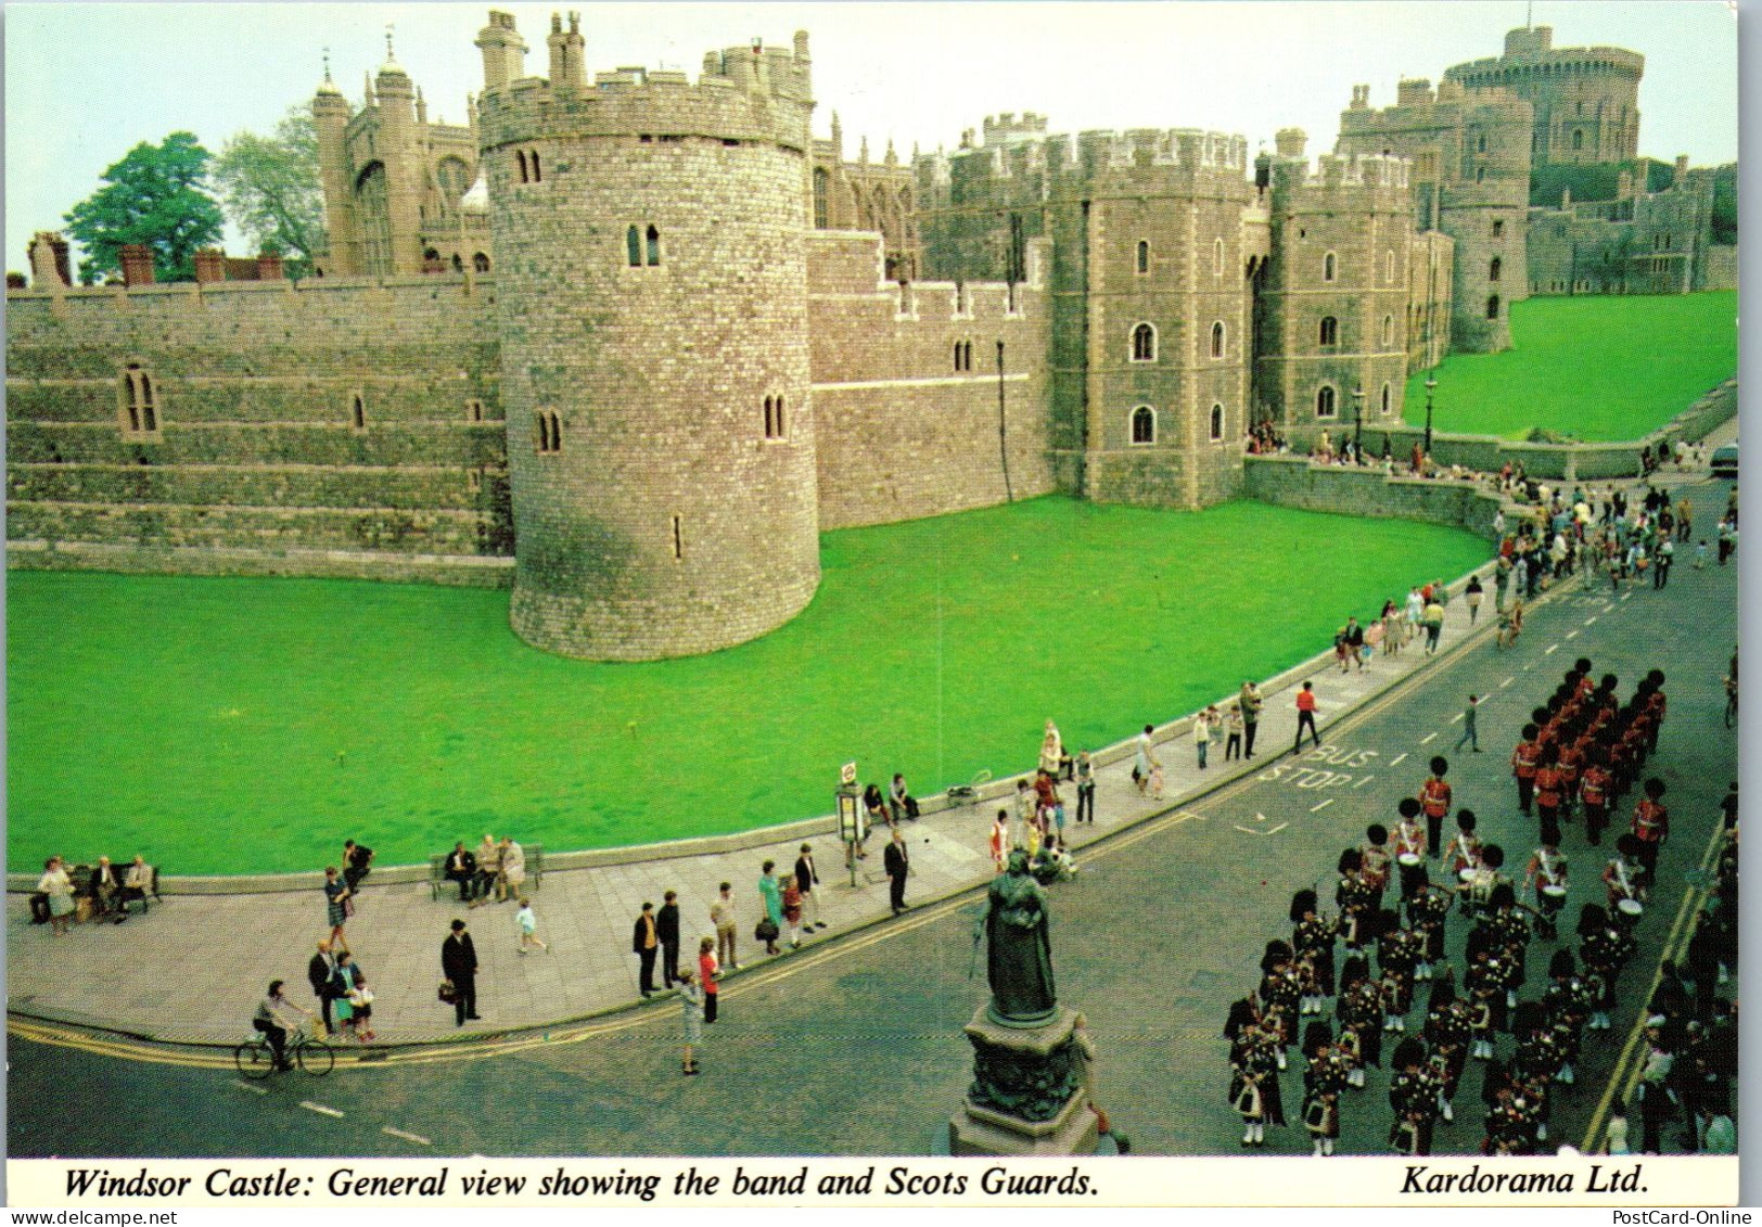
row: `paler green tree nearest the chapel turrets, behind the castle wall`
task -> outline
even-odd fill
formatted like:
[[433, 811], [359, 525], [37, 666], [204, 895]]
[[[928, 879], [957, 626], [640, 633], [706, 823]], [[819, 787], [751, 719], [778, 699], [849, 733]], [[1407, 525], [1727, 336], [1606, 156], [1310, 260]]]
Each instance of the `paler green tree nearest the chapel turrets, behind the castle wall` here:
[[292, 106], [271, 136], [240, 132], [215, 159], [215, 185], [227, 217], [259, 250], [287, 257], [298, 275], [324, 250], [324, 192], [312, 113]]

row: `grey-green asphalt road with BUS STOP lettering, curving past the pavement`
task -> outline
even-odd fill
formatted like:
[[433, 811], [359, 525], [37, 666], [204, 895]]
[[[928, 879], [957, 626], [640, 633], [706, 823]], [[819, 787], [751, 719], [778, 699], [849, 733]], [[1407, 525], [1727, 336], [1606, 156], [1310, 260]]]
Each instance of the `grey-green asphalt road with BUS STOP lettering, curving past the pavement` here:
[[[1581, 654], [1598, 673], [1618, 673], [1623, 695], [1646, 668], [1670, 679], [1670, 716], [1649, 769], [1670, 786], [1677, 830], [1642, 954], [1623, 978], [1633, 1001], [1736, 776], [1718, 686], [1737, 633], [1736, 578], [1736, 568], [1679, 566], [1663, 592], [1568, 594], [1535, 612], [1514, 651], [1480, 642], [1343, 721], [1322, 753], [1269, 760], [1256, 777], [1089, 850], [1082, 876], [1052, 896], [1059, 998], [1085, 1012], [1101, 1051], [1098, 1100], [1136, 1149], [1237, 1149], [1218, 1035], [1226, 1005], [1255, 982], [1263, 941], [1288, 931], [1292, 890], [1329, 880], [1339, 848], [1394, 814], [1431, 753], [1450, 755], [1459, 804], [1477, 809], [1487, 837], [1514, 859], [1528, 853], [1533, 830], [1515, 811], [1507, 755], [1524, 712]], [[1452, 718], [1470, 691], [1491, 695], [1480, 716], [1487, 753], [1452, 755]], [[1600, 897], [1602, 859], [1575, 829], [1566, 851], [1575, 915], [1581, 901]], [[735, 980], [700, 1079], [678, 1077], [668, 1007], [469, 1052], [391, 1052], [322, 1082], [278, 1079], [261, 1097], [224, 1068], [56, 1047], [14, 1030], [9, 1146], [14, 1155], [927, 1153], [969, 1079], [960, 1026], [985, 998], [983, 970], [971, 975], [976, 910], [974, 896], [953, 899]], [[1464, 929], [1452, 918], [1454, 950]], [[1533, 980], [1549, 954], [1547, 943], [1533, 947]], [[1556, 1141], [1582, 1137], [1632, 1021], [1630, 1007], [1610, 1042], [1588, 1049], [1579, 1086], [1559, 1097]], [[1471, 1068], [1464, 1079], [1440, 1151], [1478, 1144], [1478, 1077]], [[67, 1088], [97, 1079], [122, 1102], [162, 1111], [141, 1128], [134, 1114], [33, 1107], [67, 1104]], [[1299, 1086], [1293, 1061], [1284, 1075], [1292, 1109]], [[1343, 1151], [1381, 1153], [1383, 1089], [1373, 1074], [1350, 1098]], [[1295, 1128], [1269, 1137], [1269, 1151], [1307, 1149]]]

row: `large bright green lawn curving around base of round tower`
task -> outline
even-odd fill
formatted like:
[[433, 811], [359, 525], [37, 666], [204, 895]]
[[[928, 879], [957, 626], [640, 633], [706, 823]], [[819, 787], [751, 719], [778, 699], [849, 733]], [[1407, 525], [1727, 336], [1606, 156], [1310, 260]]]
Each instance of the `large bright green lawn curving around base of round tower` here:
[[1485, 543], [1399, 520], [1062, 497], [828, 532], [754, 643], [655, 665], [522, 645], [507, 594], [12, 571], [7, 864], [298, 871], [485, 830], [552, 850], [828, 813], [839, 763], [937, 792], [1128, 737], [1327, 645]]

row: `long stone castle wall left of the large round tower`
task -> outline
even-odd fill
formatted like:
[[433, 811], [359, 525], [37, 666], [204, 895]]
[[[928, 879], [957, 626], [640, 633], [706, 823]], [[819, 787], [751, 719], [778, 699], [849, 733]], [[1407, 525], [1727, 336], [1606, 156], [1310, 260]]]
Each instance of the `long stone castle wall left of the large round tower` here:
[[[7, 536], [511, 552], [485, 293], [425, 279], [9, 294]], [[130, 365], [152, 390], [139, 430]]]

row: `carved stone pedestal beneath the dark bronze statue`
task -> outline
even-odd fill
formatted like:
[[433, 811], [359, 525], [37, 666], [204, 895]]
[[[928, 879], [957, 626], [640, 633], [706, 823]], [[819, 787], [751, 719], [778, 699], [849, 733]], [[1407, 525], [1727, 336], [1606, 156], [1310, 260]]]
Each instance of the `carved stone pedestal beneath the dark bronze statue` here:
[[1034, 1028], [1003, 1026], [981, 1005], [967, 1022], [973, 1086], [948, 1121], [951, 1155], [1092, 1155], [1087, 1042], [1059, 1007]]

